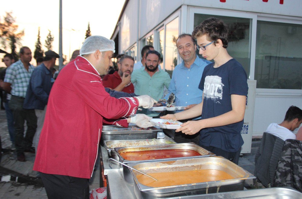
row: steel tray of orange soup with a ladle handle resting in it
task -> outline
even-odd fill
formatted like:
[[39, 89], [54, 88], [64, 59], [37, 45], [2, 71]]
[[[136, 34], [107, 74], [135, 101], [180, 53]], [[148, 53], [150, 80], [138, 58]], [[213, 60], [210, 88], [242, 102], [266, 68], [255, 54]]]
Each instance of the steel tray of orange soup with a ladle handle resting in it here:
[[248, 171], [220, 156], [129, 163], [137, 198], [162, 198], [243, 190]]

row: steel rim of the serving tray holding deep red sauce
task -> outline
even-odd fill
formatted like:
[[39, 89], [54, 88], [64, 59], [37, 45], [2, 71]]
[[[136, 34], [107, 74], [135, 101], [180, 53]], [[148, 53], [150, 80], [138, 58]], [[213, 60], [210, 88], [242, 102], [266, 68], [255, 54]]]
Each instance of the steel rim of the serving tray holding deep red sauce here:
[[[191, 156], [191, 157], [179, 157], [179, 158], [165, 158], [165, 159], [151, 159], [151, 160], [141, 160], [141, 161], [131, 161], [125, 160], [120, 153], [127, 152], [127, 151], [149, 151], [149, 150], [161, 150], [161, 149], [189, 149], [198, 152], [201, 155], [198, 156]], [[164, 144], [164, 145], [148, 145], [148, 146], [132, 146], [132, 147], [117, 147], [114, 150], [111, 150], [109, 156], [111, 155], [112, 158], [119, 159], [119, 161], [123, 163], [133, 163], [133, 162], [152, 162], [152, 161], [164, 161], [164, 160], [178, 160], [178, 159], [185, 159], [185, 158], [199, 158], [199, 157], [208, 157], [214, 156], [215, 154], [209, 152], [208, 150], [202, 148], [201, 146], [194, 144], [194, 143], [178, 143], [178, 144]], [[122, 168], [123, 177], [126, 182], [133, 184], [133, 176], [130, 173], [130, 170], [120, 165]]]

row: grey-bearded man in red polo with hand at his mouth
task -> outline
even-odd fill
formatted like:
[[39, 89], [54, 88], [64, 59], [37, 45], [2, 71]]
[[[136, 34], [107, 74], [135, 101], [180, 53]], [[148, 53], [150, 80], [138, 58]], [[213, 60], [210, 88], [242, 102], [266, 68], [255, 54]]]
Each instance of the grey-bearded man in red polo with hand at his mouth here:
[[105, 77], [102, 79], [103, 86], [116, 91], [133, 93], [134, 86], [131, 83], [133, 65], [133, 57], [128, 55], [121, 57], [120, 63], [118, 64], [118, 71], [110, 75], [105, 75]]

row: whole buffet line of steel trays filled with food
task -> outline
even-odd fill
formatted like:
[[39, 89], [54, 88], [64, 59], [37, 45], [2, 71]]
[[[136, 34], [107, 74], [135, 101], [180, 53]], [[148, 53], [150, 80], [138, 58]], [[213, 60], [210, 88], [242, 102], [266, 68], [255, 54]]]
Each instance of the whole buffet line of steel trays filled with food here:
[[[245, 180], [255, 179], [251, 173], [194, 143], [175, 143], [161, 131], [103, 126], [101, 159], [107, 198], [243, 198], [257, 197], [257, 193], [259, 198], [265, 194], [301, 197], [288, 188], [243, 191]], [[116, 161], [108, 162], [111, 158]]]

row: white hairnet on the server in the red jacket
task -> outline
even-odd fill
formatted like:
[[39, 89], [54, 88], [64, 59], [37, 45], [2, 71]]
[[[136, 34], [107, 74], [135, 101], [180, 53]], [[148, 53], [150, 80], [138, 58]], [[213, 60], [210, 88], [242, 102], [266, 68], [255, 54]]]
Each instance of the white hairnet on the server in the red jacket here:
[[115, 52], [114, 41], [111, 39], [107, 39], [102, 36], [94, 35], [89, 36], [85, 39], [81, 49], [80, 55], [86, 55], [90, 53], [94, 53], [96, 50], [99, 51], [113, 51]]

